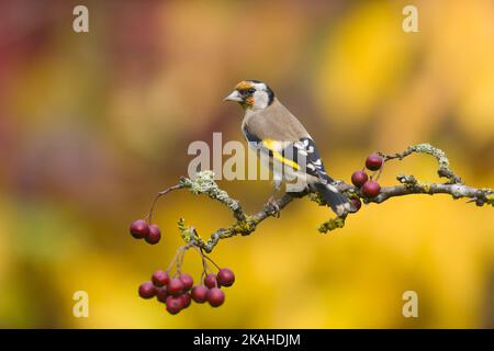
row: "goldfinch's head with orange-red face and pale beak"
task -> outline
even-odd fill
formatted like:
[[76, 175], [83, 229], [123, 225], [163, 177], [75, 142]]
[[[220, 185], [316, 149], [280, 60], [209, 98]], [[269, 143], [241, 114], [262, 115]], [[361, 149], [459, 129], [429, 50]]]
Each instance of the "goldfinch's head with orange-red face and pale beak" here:
[[274, 93], [259, 80], [244, 80], [235, 86], [234, 91], [224, 101], [236, 101], [244, 109], [263, 110], [274, 100]]

